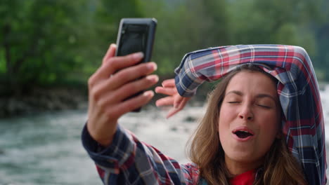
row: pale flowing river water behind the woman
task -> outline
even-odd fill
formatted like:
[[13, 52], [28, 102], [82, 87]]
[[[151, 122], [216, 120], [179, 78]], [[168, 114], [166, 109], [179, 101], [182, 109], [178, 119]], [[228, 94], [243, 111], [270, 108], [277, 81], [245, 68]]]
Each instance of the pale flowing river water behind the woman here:
[[[321, 90], [329, 143], [329, 85]], [[204, 107], [186, 107], [166, 119], [166, 110], [148, 108], [120, 123], [168, 156], [188, 162], [185, 145]], [[0, 120], [0, 184], [102, 184], [80, 136], [86, 111], [63, 111]], [[328, 172], [327, 172], [328, 173]]]

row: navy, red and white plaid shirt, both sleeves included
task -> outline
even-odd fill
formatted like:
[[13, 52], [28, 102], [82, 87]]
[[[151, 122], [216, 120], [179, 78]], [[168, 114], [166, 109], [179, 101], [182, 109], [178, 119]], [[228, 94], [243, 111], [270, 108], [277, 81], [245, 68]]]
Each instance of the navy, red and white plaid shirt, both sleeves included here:
[[[309, 184], [324, 185], [323, 113], [314, 69], [303, 48], [224, 46], [188, 53], [175, 70], [176, 88], [180, 95], [192, 96], [204, 81], [216, 81], [244, 63], [257, 64], [280, 81], [277, 89], [285, 114], [282, 124], [288, 147], [302, 163]], [[111, 146], [106, 149], [98, 146], [86, 127], [82, 142], [95, 161], [104, 184], [199, 183], [199, 170], [195, 164], [179, 165], [153, 146], [140, 142], [120, 125]]]

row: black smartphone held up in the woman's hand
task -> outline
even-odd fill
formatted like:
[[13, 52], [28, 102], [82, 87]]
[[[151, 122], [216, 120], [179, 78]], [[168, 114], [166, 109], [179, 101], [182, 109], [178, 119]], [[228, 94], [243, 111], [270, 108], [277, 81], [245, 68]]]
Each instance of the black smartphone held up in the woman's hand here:
[[[144, 54], [141, 62], [150, 62], [156, 26], [157, 20], [155, 18], [123, 18], [117, 33], [115, 55], [124, 56], [141, 51]], [[141, 93], [143, 91], [131, 97], [136, 97]], [[138, 111], [141, 111], [141, 108], [134, 110], [134, 112]]]

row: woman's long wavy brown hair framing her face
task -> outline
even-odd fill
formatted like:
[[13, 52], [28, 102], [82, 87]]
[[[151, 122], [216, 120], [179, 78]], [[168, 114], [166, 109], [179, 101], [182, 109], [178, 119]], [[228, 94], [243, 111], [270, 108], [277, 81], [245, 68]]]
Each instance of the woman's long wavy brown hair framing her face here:
[[[228, 83], [240, 71], [262, 72], [276, 83], [276, 78], [252, 64], [245, 64], [227, 74], [217, 84], [207, 98], [207, 111], [198, 128], [188, 143], [187, 153], [193, 163], [200, 169], [200, 178], [208, 184], [228, 185], [232, 177], [225, 165], [224, 150], [219, 141], [218, 121], [221, 103]], [[266, 184], [307, 184], [304, 172], [292, 153], [288, 151], [285, 139], [281, 134], [276, 139], [269, 152], [266, 153], [264, 164], [257, 170], [254, 185]]]

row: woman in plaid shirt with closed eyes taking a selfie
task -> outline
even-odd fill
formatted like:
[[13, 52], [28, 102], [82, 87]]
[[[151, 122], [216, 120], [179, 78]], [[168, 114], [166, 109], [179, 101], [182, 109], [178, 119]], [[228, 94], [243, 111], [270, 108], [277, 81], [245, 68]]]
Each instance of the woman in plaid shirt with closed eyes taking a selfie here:
[[[141, 54], [113, 57], [114, 52], [111, 46], [102, 67], [89, 79], [89, 121], [82, 135], [104, 184], [237, 184], [241, 179], [246, 184], [306, 184], [304, 179], [325, 184], [322, 108], [314, 71], [302, 48], [225, 46], [183, 57], [175, 85], [164, 81], [164, 87], [156, 89], [169, 95], [157, 105], [174, 104], [169, 116], [183, 109], [203, 81], [228, 74], [209, 100], [191, 143], [193, 163], [187, 165], [117, 124], [122, 114], [146, 104], [153, 93], [122, 100], [156, 83], [157, 76], [148, 75], [154, 63], [129, 67]], [[241, 66], [245, 63], [253, 67]], [[118, 69], [122, 70], [114, 74]], [[146, 78], [132, 81], [139, 76]]]

